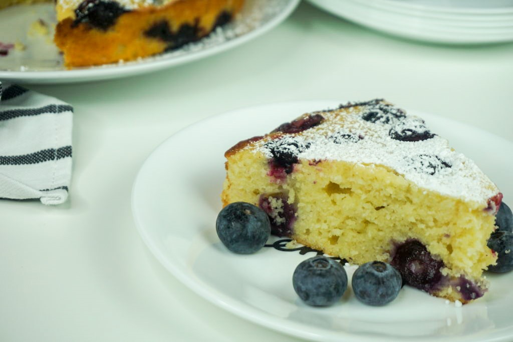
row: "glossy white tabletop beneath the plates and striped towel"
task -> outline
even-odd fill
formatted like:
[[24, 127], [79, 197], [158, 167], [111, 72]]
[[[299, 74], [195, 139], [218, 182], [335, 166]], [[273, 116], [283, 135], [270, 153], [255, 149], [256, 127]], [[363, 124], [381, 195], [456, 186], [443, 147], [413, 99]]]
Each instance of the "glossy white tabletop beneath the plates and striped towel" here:
[[384, 97], [513, 141], [512, 61], [513, 44], [423, 45], [301, 4], [271, 32], [202, 61], [29, 86], [75, 108], [73, 178], [61, 206], [0, 202], [0, 340], [299, 340], [213, 306], [150, 254], [130, 212], [145, 158], [198, 120], [301, 99]]

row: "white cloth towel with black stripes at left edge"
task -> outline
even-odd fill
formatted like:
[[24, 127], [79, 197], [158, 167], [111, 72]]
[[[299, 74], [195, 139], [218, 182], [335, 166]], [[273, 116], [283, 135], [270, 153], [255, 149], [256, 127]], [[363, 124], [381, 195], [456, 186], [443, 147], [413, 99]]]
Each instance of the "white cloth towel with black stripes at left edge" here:
[[0, 198], [66, 201], [72, 116], [59, 99], [0, 82]]

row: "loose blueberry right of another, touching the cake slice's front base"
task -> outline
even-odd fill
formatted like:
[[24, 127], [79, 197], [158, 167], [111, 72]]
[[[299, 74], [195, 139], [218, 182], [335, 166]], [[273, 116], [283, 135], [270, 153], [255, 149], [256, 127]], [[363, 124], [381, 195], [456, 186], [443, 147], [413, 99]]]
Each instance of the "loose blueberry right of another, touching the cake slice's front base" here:
[[399, 271], [382, 261], [361, 265], [351, 280], [357, 299], [373, 306], [382, 306], [396, 299], [402, 283]]

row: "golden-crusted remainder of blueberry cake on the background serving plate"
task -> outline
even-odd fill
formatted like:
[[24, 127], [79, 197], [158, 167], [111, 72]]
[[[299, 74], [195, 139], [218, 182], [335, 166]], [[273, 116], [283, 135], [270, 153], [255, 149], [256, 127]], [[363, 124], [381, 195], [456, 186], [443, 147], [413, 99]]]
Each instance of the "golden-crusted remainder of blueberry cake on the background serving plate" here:
[[[0, 0], [0, 8], [45, 0]], [[56, 0], [54, 42], [67, 67], [132, 61], [198, 41], [244, 0]]]

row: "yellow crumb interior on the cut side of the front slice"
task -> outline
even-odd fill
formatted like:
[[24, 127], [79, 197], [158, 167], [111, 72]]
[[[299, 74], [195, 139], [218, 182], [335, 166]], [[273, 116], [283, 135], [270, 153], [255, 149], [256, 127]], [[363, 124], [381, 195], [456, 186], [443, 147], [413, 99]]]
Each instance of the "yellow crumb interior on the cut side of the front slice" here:
[[477, 203], [419, 188], [379, 165], [303, 161], [298, 169], [286, 184], [271, 183], [267, 158], [241, 151], [230, 157], [223, 202], [258, 205], [260, 194], [288, 193], [301, 217], [292, 238], [356, 264], [387, 261], [394, 241], [408, 238], [418, 238], [455, 275], [479, 279], [494, 263], [485, 242], [495, 218]]

